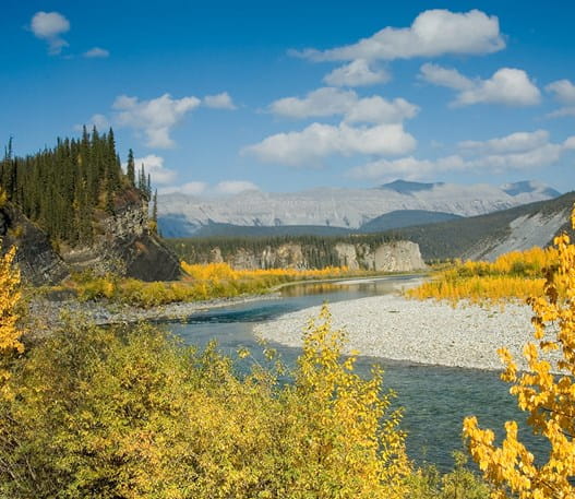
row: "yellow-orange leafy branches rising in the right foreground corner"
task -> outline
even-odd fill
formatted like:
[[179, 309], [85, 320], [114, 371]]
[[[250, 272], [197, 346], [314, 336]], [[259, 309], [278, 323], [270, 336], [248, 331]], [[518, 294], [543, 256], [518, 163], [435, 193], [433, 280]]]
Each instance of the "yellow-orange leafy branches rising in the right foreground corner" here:
[[[544, 295], [529, 299], [535, 341], [524, 349], [528, 370], [519, 372], [510, 352], [500, 351], [506, 366], [502, 379], [512, 384], [510, 392], [528, 413], [535, 433], [549, 441], [549, 454], [538, 463], [519, 441], [516, 421], [505, 423], [500, 447], [494, 432], [480, 429], [476, 417], [464, 421], [469, 450], [492, 484], [494, 499], [575, 498], [575, 246], [564, 234], [555, 238], [550, 254], [556, 260], [546, 271]], [[550, 352], [559, 358], [550, 358]]]

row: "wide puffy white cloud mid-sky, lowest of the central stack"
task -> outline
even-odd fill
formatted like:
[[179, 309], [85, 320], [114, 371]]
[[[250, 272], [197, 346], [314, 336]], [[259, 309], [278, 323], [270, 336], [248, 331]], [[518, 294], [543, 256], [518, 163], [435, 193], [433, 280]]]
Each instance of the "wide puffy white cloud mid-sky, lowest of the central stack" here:
[[334, 154], [406, 154], [416, 143], [399, 123], [371, 128], [312, 123], [302, 131], [271, 135], [244, 147], [242, 154], [251, 154], [265, 163], [316, 166], [321, 159]]

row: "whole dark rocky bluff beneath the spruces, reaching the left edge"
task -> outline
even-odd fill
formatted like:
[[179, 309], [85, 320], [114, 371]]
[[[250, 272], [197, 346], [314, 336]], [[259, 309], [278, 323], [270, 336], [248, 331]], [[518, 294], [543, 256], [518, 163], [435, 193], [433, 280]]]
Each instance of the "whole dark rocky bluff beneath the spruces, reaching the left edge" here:
[[113, 273], [142, 281], [171, 281], [180, 275], [176, 254], [151, 229], [147, 204], [135, 192], [117, 200], [113, 214], [101, 216], [92, 245], [55, 248], [47, 235], [11, 203], [0, 209], [2, 250], [15, 245], [25, 281], [53, 284], [70, 272]]

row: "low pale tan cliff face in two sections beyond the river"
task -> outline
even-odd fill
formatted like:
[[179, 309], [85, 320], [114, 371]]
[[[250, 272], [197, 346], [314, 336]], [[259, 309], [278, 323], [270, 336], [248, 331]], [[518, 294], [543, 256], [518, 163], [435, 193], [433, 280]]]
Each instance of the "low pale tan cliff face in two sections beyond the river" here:
[[[261, 252], [240, 248], [223, 257], [218, 247], [213, 248], [202, 263], [227, 262], [235, 269], [313, 269], [310, 252], [299, 243], [287, 242], [277, 247], [267, 246]], [[333, 254], [334, 265], [346, 265], [350, 270], [382, 272], [410, 272], [424, 269], [419, 246], [411, 241], [393, 241], [371, 248], [367, 243], [338, 242]]]

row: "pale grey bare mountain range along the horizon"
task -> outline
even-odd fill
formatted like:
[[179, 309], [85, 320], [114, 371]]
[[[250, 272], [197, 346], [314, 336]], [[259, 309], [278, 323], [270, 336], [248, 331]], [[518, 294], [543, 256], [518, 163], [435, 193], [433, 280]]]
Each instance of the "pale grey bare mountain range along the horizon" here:
[[158, 197], [158, 224], [165, 237], [253, 235], [249, 228], [254, 227], [257, 235], [286, 234], [288, 227], [299, 234], [306, 227], [314, 234], [374, 231], [482, 215], [558, 195], [535, 181], [496, 187], [406, 180], [370, 189], [316, 188], [292, 193], [169, 193]]

